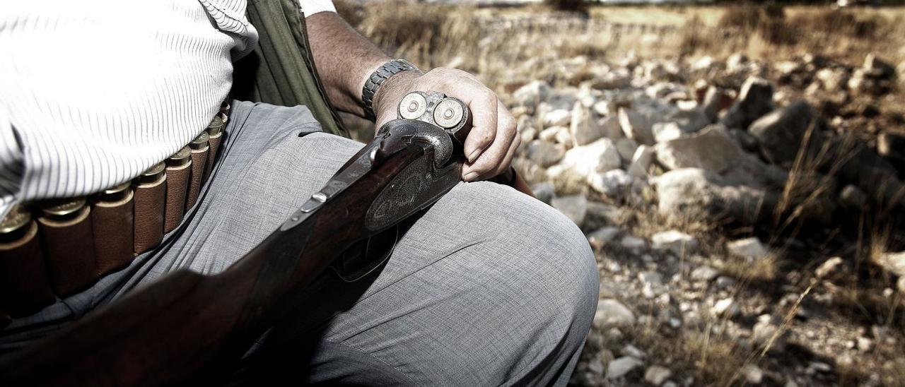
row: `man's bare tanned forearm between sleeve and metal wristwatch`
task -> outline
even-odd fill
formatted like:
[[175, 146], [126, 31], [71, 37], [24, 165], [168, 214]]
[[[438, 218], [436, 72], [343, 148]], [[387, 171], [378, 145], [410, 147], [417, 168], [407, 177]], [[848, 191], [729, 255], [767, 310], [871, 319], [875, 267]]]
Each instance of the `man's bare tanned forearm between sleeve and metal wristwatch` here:
[[364, 116], [361, 89], [367, 77], [390, 58], [333, 12], [305, 19], [315, 65], [336, 109]]

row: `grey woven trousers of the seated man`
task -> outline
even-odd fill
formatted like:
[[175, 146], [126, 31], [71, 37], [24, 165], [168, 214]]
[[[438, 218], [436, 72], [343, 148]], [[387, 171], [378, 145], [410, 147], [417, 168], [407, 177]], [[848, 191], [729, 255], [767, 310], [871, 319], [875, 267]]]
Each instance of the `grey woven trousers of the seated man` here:
[[[127, 269], [0, 332], [47, 335], [168, 271], [225, 269], [275, 230], [362, 144], [319, 133], [304, 107], [233, 102], [195, 208]], [[309, 300], [221, 382], [563, 385], [595, 312], [598, 274], [575, 224], [493, 183], [459, 184], [407, 222], [386, 265]]]

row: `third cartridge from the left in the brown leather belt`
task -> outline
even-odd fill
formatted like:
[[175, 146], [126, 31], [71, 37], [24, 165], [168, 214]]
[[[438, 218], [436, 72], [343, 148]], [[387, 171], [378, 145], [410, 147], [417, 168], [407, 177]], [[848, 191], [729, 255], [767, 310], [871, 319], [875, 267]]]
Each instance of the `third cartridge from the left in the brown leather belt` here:
[[126, 267], [134, 258], [134, 196], [131, 184], [126, 182], [110, 187], [94, 198], [91, 228], [100, 276]]

